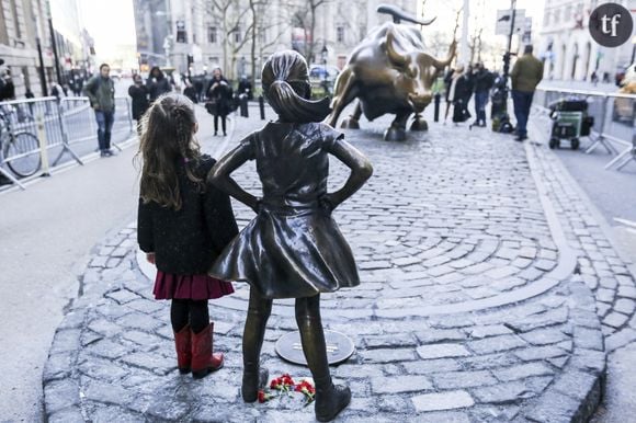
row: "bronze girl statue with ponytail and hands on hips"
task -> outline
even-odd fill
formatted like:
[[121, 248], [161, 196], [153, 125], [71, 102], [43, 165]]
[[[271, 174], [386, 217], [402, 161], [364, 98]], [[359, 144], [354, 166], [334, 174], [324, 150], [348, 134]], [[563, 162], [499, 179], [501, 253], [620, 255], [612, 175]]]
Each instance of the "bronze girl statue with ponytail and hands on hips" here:
[[[303, 352], [316, 384], [316, 418], [332, 420], [351, 400], [329, 373], [320, 321], [320, 293], [360, 284], [349, 244], [331, 210], [355, 193], [372, 174], [368, 160], [343, 135], [319, 123], [329, 100], [313, 102], [307, 64], [295, 52], [274, 54], [263, 67], [263, 93], [279, 114], [220, 159], [208, 179], [258, 213], [225, 249], [211, 275], [247, 281], [250, 302], [243, 332], [246, 402], [257, 400], [259, 357], [273, 298], [296, 298], [296, 322]], [[339, 191], [327, 193], [329, 153], [351, 169]], [[243, 191], [229, 175], [257, 161], [263, 197]]]

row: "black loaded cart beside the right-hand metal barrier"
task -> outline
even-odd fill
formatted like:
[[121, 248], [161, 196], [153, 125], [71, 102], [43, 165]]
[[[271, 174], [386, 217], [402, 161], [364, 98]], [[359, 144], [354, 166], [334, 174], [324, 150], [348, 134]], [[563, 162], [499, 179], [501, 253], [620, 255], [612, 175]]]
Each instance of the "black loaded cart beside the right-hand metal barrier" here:
[[559, 100], [549, 106], [554, 121], [549, 136], [549, 148], [560, 147], [561, 139], [570, 141], [572, 150], [581, 145], [580, 137], [590, 135], [594, 118], [588, 115], [588, 102], [580, 99]]

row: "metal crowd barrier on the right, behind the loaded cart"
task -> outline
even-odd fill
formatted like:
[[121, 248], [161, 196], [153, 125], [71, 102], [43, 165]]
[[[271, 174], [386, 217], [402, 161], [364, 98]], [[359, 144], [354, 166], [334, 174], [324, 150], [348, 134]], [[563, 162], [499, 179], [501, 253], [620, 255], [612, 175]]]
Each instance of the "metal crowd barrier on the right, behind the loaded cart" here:
[[[616, 155], [605, 169], [615, 167], [621, 170], [636, 160], [636, 95], [606, 93], [600, 91], [538, 88], [534, 94], [533, 106], [540, 114], [549, 111], [549, 105], [564, 98], [576, 96], [588, 102], [588, 115], [594, 118], [590, 135], [591, 144], [586, 153], [603, 147], [607, 153]], [[548, 130], [552, 125], [548, 125]]]

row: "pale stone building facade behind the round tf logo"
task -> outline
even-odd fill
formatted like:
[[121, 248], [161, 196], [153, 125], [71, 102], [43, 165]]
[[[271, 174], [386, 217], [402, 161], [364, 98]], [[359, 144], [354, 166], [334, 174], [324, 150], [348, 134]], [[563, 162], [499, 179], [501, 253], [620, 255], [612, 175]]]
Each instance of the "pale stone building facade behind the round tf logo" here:
[[[627, 10], [636, 9], [636, 0], [617, 0]], [[541, 31], [538, 57], [544, 60], [544, 77], [555, 80], [599, 79], [613, 82], [614, 76], [629, 65], [634, 44], [616, 48], [597, 44], [590, 32], [591, 12], [604, 1], [546, 0]]]

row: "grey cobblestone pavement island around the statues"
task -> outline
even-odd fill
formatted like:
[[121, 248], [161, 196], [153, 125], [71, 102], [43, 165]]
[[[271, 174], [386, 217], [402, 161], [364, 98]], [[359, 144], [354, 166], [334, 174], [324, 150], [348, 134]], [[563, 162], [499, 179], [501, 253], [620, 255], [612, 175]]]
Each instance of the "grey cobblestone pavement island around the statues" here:
[[[334, 213], [362, 278], [322, 298], [326, 328], [356, 347], [332, 368], [353, 392], [338, 420], [584, 421], [600, 400], [605, 343], [636, 339], [636, 295], [573, 181], [546, 148], [486, 129], [431, 125], [387, 144], [386, 124], [347, 132], [375, 173]], [[260, 126], [239, 121], [232, 141]], [[332, 172], [331, 186], [347, 176], [337, 162]], [[237, 180], [257, 190], [254, 174]], [[241, 226], [252, 217], [236, 211]], [[169, 304], [152, 299], [135, 237], [135, 224], [109, 237], [79, 275], [82, 296], [44, 371], [49, 421], [314, 421], [295, 395], [240, 400], [245, 284], [211, 301], [225, 368], [198, 381], [179, 375]], [[293, 301], [275, 301], [263, 347], [271, 375], [309, 376], [273, 348], [296, 329], [293, 316]]]

